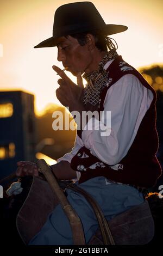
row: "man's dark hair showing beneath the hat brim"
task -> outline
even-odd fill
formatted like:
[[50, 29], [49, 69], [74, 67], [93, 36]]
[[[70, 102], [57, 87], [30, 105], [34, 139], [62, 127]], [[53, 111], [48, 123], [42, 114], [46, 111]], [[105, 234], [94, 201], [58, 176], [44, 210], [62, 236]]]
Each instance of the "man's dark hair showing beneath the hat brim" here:
[[[95, 38], [95, 45], [100, 51], [110, 51], [112, 49], [117, 50], [118, 46], [114, 39], [104, 35], [101, 31], [87, 31], [84, 33], [72, 34], [73, 38], [76, 38], [80, 45], [84, 46], [87, 42], [87, 34], [92, 34]], [[112, 42], [114, 40], [114, 42]]]

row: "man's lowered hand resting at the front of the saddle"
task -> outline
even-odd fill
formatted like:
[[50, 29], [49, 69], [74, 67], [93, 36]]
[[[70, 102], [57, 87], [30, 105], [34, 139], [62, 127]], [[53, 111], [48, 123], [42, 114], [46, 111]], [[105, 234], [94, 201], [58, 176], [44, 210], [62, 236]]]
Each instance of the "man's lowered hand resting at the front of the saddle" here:
[[39, 169], [34, 162], [20, 161], [17, 162], [16, 175], [21, 177], [26, 175], [39, 176]]

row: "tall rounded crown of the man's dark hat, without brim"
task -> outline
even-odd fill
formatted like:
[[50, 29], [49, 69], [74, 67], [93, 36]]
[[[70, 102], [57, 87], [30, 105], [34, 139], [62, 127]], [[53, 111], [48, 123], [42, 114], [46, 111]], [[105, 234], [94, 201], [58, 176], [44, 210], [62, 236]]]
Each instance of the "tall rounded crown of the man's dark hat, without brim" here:
[[[99, 29], [105, 26], [102, 16], [95, 5], [91, 2], [77, 2], [61, 5], [54, 15], [53, 36], [60, 31], [72, 33], [80, 27], [83, 31], [89, 29]], [[66, 34], [65, 34], [66, 35]]]

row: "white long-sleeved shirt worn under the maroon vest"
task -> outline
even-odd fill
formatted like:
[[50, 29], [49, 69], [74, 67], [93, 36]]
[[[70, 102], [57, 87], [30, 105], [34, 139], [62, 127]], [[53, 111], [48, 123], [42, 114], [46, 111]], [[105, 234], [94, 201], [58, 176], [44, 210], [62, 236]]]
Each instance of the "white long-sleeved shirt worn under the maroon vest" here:
[[[112, 61], [106, 63], [104, 69], [107, 69]], [[114, 167], [127, 155], [152, 100], [153, 93], [143, 86], [137, 77], [132, 74], [124, 75], [108, 89], [105, 96], [104, 111], [111, 111], [110, 136], [101, 136], [101, 131], [95, 130], [95, 127], [99, 126], [99, 120], [95, 119], [93, 129], [83, 130], [82, 139], [77, 135], [72, 151], [57, 162], [70, 163], [78, 150], [85, 146], [90, 149], [92, 155]], [[104, 123], [100, 121], [102, 126], [108, 124], [106, 118]], [[88, 124], [91, 122], [90, 119]], [[77, 178], [80, 178], [80, 172], [77, 172]]]

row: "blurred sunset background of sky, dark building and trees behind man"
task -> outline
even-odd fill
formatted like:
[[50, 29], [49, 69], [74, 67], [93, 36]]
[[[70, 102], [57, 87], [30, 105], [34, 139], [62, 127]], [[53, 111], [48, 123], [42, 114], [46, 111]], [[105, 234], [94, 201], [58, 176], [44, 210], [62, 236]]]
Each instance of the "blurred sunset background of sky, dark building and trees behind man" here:
[[[44, 158], [53, 164], [74, 145], [76, 131], [52, 129], [54, 111], [61, 111], [63, 119], [70, 117], [55, 96], [59, 77], [52, 65], [63, 68], [57, 62], [57, 48], [33, 48], [52, 36], [55, 10], [71, 2], [75, 1], [0, 1], [0, 179], [16, 170], [17, 161]], [[162, 164], [163, 1], [92, 2], [105, 23], [128, 26], [126, 32], [111, 36], [118, 44], [117, 52], [156, 90], [157, 155]]]

